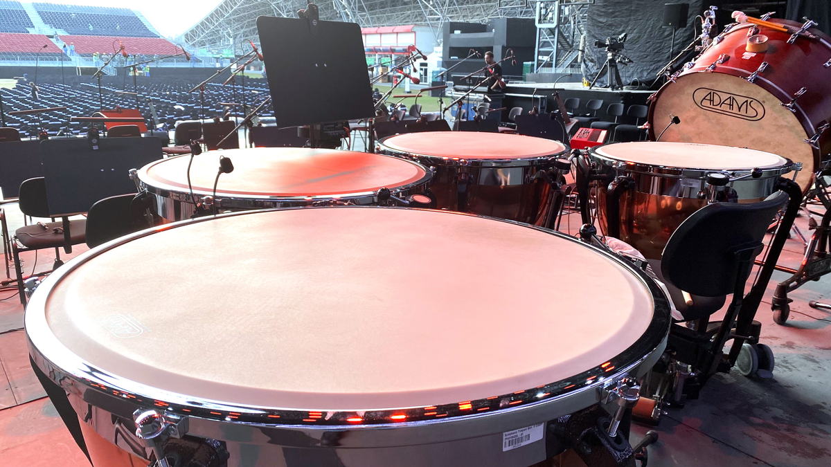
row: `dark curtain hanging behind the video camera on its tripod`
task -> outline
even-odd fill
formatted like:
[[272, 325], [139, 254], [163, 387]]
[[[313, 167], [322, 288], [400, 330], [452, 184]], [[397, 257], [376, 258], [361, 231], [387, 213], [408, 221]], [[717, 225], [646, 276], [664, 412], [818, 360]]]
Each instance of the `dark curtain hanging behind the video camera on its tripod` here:
[[[594, 42], [605, 41], [607, 37], [617, 37], [626, 32], [627, 42], [622, 52], [632, 58], [632, 63], [618, 66], [623, 84], [640, 81], [648, 85], [655, 81], [656, 73], [666, 66], [671, 57], [692, 42], [696, 32], [701, 32], [701, 22], [695, 18], [706, 7], [703, 0], [686, 2], [690, 5], [687, 24], [686, 27], [675, 30], [675, 53], [671, 56], [673, 29], [661, 27], [664, 3], [656, 0], [597, 0], [590, 5], [583, 49], [583, 76], [592, 81], [606, 61], [605, 49], [595, 47]], [[666, 3], [679, 1], [666, 0]], [[597, 85], [606, 84], [604, 72]]]

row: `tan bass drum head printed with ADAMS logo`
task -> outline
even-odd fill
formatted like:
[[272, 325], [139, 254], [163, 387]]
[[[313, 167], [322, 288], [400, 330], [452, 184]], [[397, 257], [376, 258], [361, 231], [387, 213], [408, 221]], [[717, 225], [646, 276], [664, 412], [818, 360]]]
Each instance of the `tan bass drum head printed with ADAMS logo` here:
[[[740, 145], [801, 162], [804, 169], [796, 181], [803, 188], [814, 170], [814, 149], [794, 112], [781, 101], [740, 77], [724, 73], [691, 73], [668, 83], [655, 101], [652, 130], [658, 135], [670, 122], [662, 141]], [[689, 161], [691, 167], [696, 160]]]

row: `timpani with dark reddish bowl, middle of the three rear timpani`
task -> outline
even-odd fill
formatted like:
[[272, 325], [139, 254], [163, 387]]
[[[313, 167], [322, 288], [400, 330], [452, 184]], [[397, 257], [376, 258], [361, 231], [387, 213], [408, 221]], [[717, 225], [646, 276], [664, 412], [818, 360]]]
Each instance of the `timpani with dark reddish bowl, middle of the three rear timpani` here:
[[550, 179], [568, 148], [558, 141], [474, 131], [431, 131], [388, 136], [383, 154], [435, 170], [436, 207], [548, 227], [553, 217]]

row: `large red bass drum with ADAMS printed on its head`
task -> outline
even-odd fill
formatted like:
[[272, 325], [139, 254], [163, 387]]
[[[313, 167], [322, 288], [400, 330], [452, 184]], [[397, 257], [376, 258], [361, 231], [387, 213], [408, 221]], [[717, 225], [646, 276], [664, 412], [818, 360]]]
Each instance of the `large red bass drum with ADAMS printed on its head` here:
[[815, 37], [799, 36], [788, 43], [788, 32], [769, 27], [725, 27], [711, 47], [651, 97], [652, 140], [671, 115], [678, 116], [681, 123], [671, 125], [661, 141], [740, 146], [781, 155], [802, 163], [796, 181], [808, 189], [822, 157], [831, 151], [831, 38], [817, 29], [809, 32]]

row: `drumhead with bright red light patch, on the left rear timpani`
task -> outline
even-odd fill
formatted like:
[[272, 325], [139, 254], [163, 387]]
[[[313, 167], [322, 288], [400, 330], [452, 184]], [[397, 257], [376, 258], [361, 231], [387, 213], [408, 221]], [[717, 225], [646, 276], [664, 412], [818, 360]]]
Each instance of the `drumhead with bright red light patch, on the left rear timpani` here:
[[[190, 180], [194, 191], [211, 193], [219, 156], [229, 157], [234, 171], [219, 177], [218, 197], [332, 196], [374, 192], [413, 184], [425, 178], [420, 165], [386, 155], [309, 148], [217, 150], [194, 157]], [[157, 189], [188, 191], [190, 156], [146, 165], [139, 178]]]

